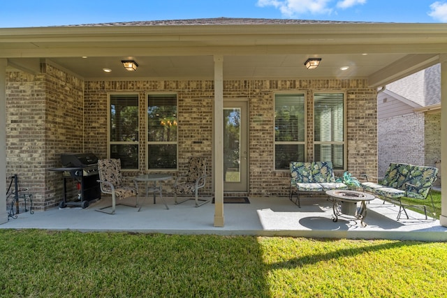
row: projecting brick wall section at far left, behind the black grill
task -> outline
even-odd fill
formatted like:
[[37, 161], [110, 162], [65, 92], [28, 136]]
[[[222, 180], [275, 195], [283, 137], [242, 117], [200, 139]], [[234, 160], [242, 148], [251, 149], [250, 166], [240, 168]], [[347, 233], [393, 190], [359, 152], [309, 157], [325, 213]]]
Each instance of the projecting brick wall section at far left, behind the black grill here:
[[29, 188], [36, 210], [62, 200], [61, 174], [49, 171], [60, 154], [82, 151], [82, 90], [82, 80], [45, 64], [39, 75], [7, 75], [6, 172]]

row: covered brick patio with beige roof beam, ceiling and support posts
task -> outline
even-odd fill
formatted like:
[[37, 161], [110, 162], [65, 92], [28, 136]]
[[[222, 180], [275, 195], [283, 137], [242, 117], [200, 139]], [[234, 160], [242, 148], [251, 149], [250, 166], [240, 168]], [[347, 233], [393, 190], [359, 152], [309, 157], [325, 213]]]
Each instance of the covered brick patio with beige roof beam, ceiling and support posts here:
[[[286, 225], [295, 227], [291, 231], [297, 234], [321, 230], [325, 237], [355, 235], [358, 230], [369, 231], [377, 237], [388, 230], [404, 232], [405, 228], [396, 223], [382, 226], [377, 222], [364, 229], [356, 226], [346, 229], [341, 221], [313, 221], [312, 218], [322, 215], [318, 208], [307, 213], [284, 199], [290, 179], [284, 168], [277, 169], [274, 165], [274, 94], [298, 90], [305, 97], [302, 107], [309, 118], [300, 127], [305, 131], [305, 141], [300, 145], [305, 147], [306, 160], [317, 158], [312, 118], [314, 94], [322, 90], [343, 94], [346, 133], [341, 170], [349, 170], [355, 176], [376, 176], [376, 91], [389, 82], [440, 63], [441, 101], [445, 102], [446, 29], [446, 24], [227, 18], [0, 29], [0, 144], [3, 144], [0, 147], [0, 223], [5, 223], [5, 228], [22, 223], [22, 215], [8, 221], [6, 191], [1, 191], [6, 190], [10, 175], [17, 173], [34, 186], [38, 209], [43, 211], [29, 216], [23, 214], [31, 223], [28, 228], [34, 225], [34, 228], [89, 230], [116, 222], [117, 229], [129, 225], [124, 230], [151, 232], [155, 231], [152, 230], [154, 223], [142, 228], [145, 221], [163, 214], [166, 220], [160, 222], [166, 225], [159, 231], [181, 230], [179, 218], [187, 218], [185, 225], [191, 223], [191, 218], [200, 218], [200, 227], [191, 231], [228, 229], [231, 232], [233, 227], [234, 231], [274, 234], [287, 231]], [[309, 58], [321, 59], [321, 65], [307, 69], [304, 62]], [[125, 70], [120, 62], [124, 60], [138, 61], [138, 70]], [[105, 73], [103, 69], [112, 72]], [[129, 215], [117, 214], [101, 220], [100, 216], [105, 215], [92, 209], [55, 208], [62, 197], [61, 179], [50, 173], [50, 169], [60, 166], [59, 156], [68, 150], [95, 151], [100, 158], [110, 157], [108, 96], [124, 92], [136, 94], [136, 101], [141, 104], [140, 119], [147, 117], [145, 100], [150, 92], [179, 95], [183, 108], [179, 111], [183, 117], [179, 127], [183, 125], [187, 129], [179, 134], [177, 168], [170, 173], [178, 174], [179, 165], [184, 166], [192, 154], [208, 156], [210, 179], [206, 195], [214, 195], [216, 204], [179, 214], [175, 211], [186, 207], [175, 206], [173, 210], [149, 214], [155, 209], [151, 206], [136, 216], [132, 214], [134, 210], [126, 209]], [[14, 114], [6, 114], [8, 100], [17, 109]], [[225, 204], [225, 213], [224, 100], [244, 101], [249, 105], [249, 147], [244, 156], [248, 179], [244, 194], [252, 200], [247, 206]], [[202, 111], [197, 117], [200, 119], [191, 121], [197, 111]], [[27, 122], [23, 116], [35, 119]], [[147, 127], [142, 122], [138, 126], [137, 144], [138, 156], [142, 158], [138, 160], [138, 167], [127, 173], [129, 176], [156, 172], [145, 159], [149, 156], [149, 140]], [[446, 127], [447, 110], [444, 110], [441, 112], [441, 147], [444, 148], [441, 159], [444, 160], [447, 160]], [[14, 133], [13, 142], [8, 143], [5, 128], [9, 134]], [[441, 172], [447, 172], [447, 163], [442, 164]], [[441, 184], [447, 184], [446, 175], [441, 179]], [[162, 208], [156, 206], [159, 207]], [[239, 213], [239, 209], [246, 208], [253, 210]], [[168, 214], [173, 215], [171, 221]], [[252, 216], [254, 225], [245, 225], [246, 214]], [[39, 218], [40, 223], [31, 222]], [[329, 222], [330, 226], [319, 228], [322, 221]], [[447, 193], [442, 195], [440, 224], [447, 226]], [[234, 225], [240, 227], [234, 228]], [[426, 228], [423, 225], [416, 230]]]

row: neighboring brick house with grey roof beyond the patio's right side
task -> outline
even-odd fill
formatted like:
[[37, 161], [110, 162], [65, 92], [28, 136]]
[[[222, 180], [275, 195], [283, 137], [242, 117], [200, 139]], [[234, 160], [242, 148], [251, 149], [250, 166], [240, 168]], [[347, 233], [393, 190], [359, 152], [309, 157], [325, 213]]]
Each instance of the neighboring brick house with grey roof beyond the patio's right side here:
[[387, 84], [377, 106], [379, 177], [392, 162], [441, 166], [439, 64]]

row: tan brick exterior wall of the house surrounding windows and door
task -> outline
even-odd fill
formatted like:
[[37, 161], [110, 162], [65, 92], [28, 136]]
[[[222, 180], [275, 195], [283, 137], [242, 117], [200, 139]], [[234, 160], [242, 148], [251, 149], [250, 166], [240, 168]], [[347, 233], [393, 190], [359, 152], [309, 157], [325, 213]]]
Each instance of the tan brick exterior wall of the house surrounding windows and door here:
[[[204, 195], [212, 195], [212, 119], [214, 82], [212, 80], [182, 81], [87, 81], [82, 82], [52, 66], [44, 66], [43, 75], [33, 77], [24, 73], [10, 74], [8, 81], [8, 114], [28, 99], [40, 98], [34, 110], [42, 110], [39, 133], [43, 133], [38, 162], [29, 170], [30, 177], [41, 174], [42, 188], [37, 193], [38, 209], [46, 209], [61, 200], [60, 177], [49, 172], [51, 167], [60, 166], [59, 154], [64, 151], [91, 151], [98, 158], [107, 157], [108, 93], [126, 92], [140, 95], [140, 170], [126, 172], [127, 175], [145, 172], [146, 168], [146, 94], [175, 92], [178, 94], [178, 153], [179, 172], [183, 172], [189, 156], [201, 155], [207, 158], [210, 174]], [[29, 94], [14, 94], [20, 86], [21, 77]], [[377, 174], [377, 108], [376, 91], [367, 87], [367, 80], [224, 80], [223, 98], [248, 100], [249, 104], [249, 193], [251, 196], [288, 196], [290, 178], [288, 171], [274, 170], [274, 107], [275, 91], [302, 92], [307, 94], [307, 155], [313, 159], [313, 98], [314, 91], [346, 92], [346, 144], [348, 170], [354, 176], [367, 172]], [[15, 98], [16, 97], [16, 98]], [[12, 105], [13, 98], [16, 101]], [[25, 103], [24, 103], [25, 102]], [[17, 112], [17, 111], [16, 111]], [[11, 128], [24, 129], [24, 124], [8, 120], [8, 174], [19, 172], [17, 168], [24, 156], [31, 153], [23, 147], [24, 137], [10, 132]], [[44, 132], [42, 132], [42, 130]], [[64, 138], [60, 142], [59, 138]], [[17, 140], [16, 140], [17, 139]], [[15, 147], [16, 142], [22, 146]], [[37, 166], [38, 165], [38, 166]], [[175, 176], [177, 173], [173, 173]], [[166, 192], [170, 192], [166, 184]]]

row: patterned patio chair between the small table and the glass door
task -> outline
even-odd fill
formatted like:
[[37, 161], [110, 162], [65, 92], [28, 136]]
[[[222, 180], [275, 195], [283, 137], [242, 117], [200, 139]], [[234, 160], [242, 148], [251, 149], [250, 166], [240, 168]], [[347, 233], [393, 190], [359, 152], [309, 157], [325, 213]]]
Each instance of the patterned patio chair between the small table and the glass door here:
[[[198, 198], [198, 190], [205, 186], [206, 182], [206, 158], [191, 157], [189, 158], [188, 172], [180, 175], [174, 182], [174, 199], [175, 204], [181, 204], [187, 200], [195, 200], [196, 207], [202, 206], [210, 200], [203, 200]], [[177, 195], [194, 195], [194, 198], [187, 198], [181, 202], [177, 202]], [[200, 203], [199, 203], [200, 201]]]

